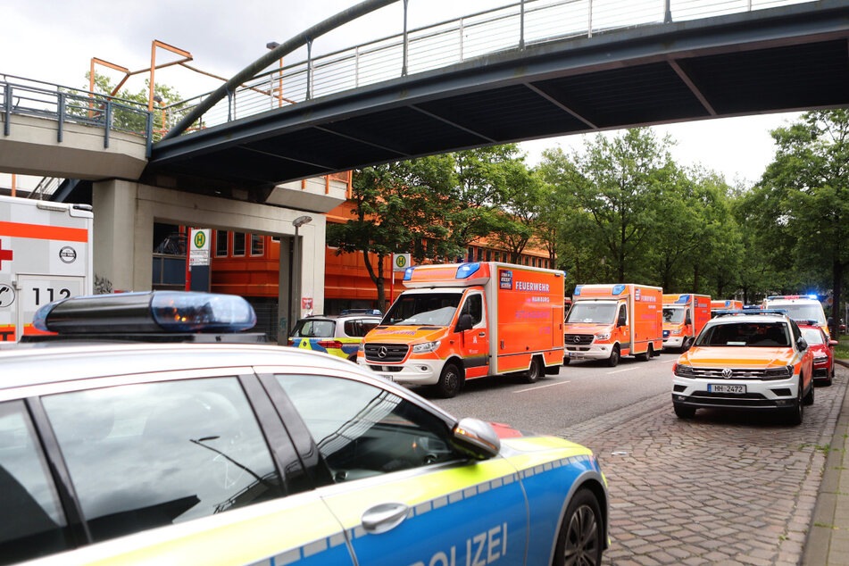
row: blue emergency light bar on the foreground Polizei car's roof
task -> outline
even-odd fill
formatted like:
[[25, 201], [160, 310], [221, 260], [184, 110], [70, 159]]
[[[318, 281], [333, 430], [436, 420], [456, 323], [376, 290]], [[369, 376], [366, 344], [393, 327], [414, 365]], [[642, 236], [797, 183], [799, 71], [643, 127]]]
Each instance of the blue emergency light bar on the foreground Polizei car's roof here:
[[237, 295], [151, 291], [71, 297], [38, 309], [32, 325], [59, 334], [239, 332], [256, 313]]

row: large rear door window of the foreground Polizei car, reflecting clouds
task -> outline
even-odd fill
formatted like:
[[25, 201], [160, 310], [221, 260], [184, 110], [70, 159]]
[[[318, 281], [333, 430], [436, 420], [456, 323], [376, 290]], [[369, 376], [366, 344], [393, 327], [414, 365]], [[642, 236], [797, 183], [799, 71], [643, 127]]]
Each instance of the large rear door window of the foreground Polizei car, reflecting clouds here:
[[43, 398], [95, 541], [283, 495], [237, 378]]

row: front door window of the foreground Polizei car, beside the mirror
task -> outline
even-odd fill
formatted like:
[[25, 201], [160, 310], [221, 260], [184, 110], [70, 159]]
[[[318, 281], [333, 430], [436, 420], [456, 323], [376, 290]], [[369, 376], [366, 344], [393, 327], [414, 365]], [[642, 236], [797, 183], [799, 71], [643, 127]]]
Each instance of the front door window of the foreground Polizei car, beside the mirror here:
[[402, 397], [352, 379], [278, 375], [336, 481], [456, 458], [448, 428]]

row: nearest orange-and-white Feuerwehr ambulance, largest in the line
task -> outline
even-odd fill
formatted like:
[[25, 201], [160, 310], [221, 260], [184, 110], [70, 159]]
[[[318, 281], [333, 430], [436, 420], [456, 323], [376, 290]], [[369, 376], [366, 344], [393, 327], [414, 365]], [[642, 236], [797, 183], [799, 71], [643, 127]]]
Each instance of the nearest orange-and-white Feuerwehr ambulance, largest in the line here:
[[404, 384], [457, 395], [466, 379], [534, 382], [563, 361], [562, 271], [500, 262], [420, 265], [362, 340], [357, 362]]

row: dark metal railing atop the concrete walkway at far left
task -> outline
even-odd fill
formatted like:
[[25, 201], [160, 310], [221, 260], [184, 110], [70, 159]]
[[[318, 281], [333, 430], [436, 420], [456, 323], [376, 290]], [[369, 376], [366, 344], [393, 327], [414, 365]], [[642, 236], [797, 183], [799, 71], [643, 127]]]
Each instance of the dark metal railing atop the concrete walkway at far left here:
[[0, 74], [0, 114], [4, 136], [11, 134], [12, 114], [18, 114], [56, 121], [59, 143], [68, 122], [103, 129], [104, 148], [112, 131], [144, 138], [148, 156], [153, 142], [153, 114], [144, 104], [13, 75]]

